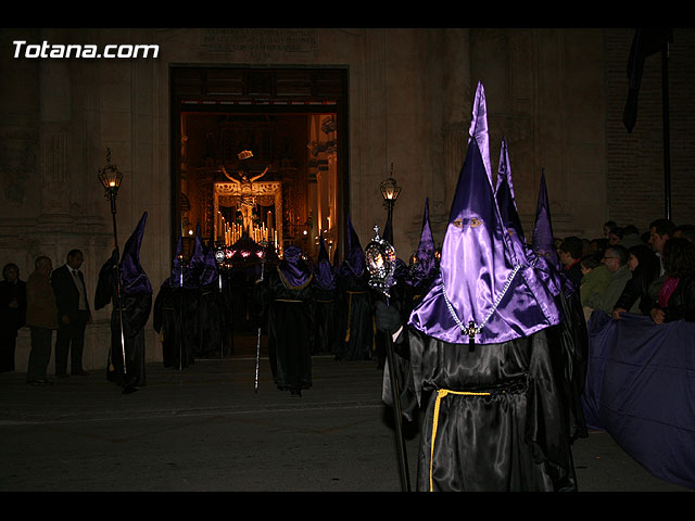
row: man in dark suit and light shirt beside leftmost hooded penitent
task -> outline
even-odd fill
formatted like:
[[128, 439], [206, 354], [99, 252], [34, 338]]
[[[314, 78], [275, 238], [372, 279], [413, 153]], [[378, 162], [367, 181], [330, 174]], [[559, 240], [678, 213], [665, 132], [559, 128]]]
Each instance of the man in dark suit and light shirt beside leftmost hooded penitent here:
[[67, 377], [67, 355], [71, 374], [87, 376], [83, 369], [85, 329], [91, 319], [85, 278], [79, 271], [85, 256], [79, 250], [71, 250], [67, 263], [53, 270], [51, 283], [58, 304], [58, 335], [55, 339], [55, 376]]

